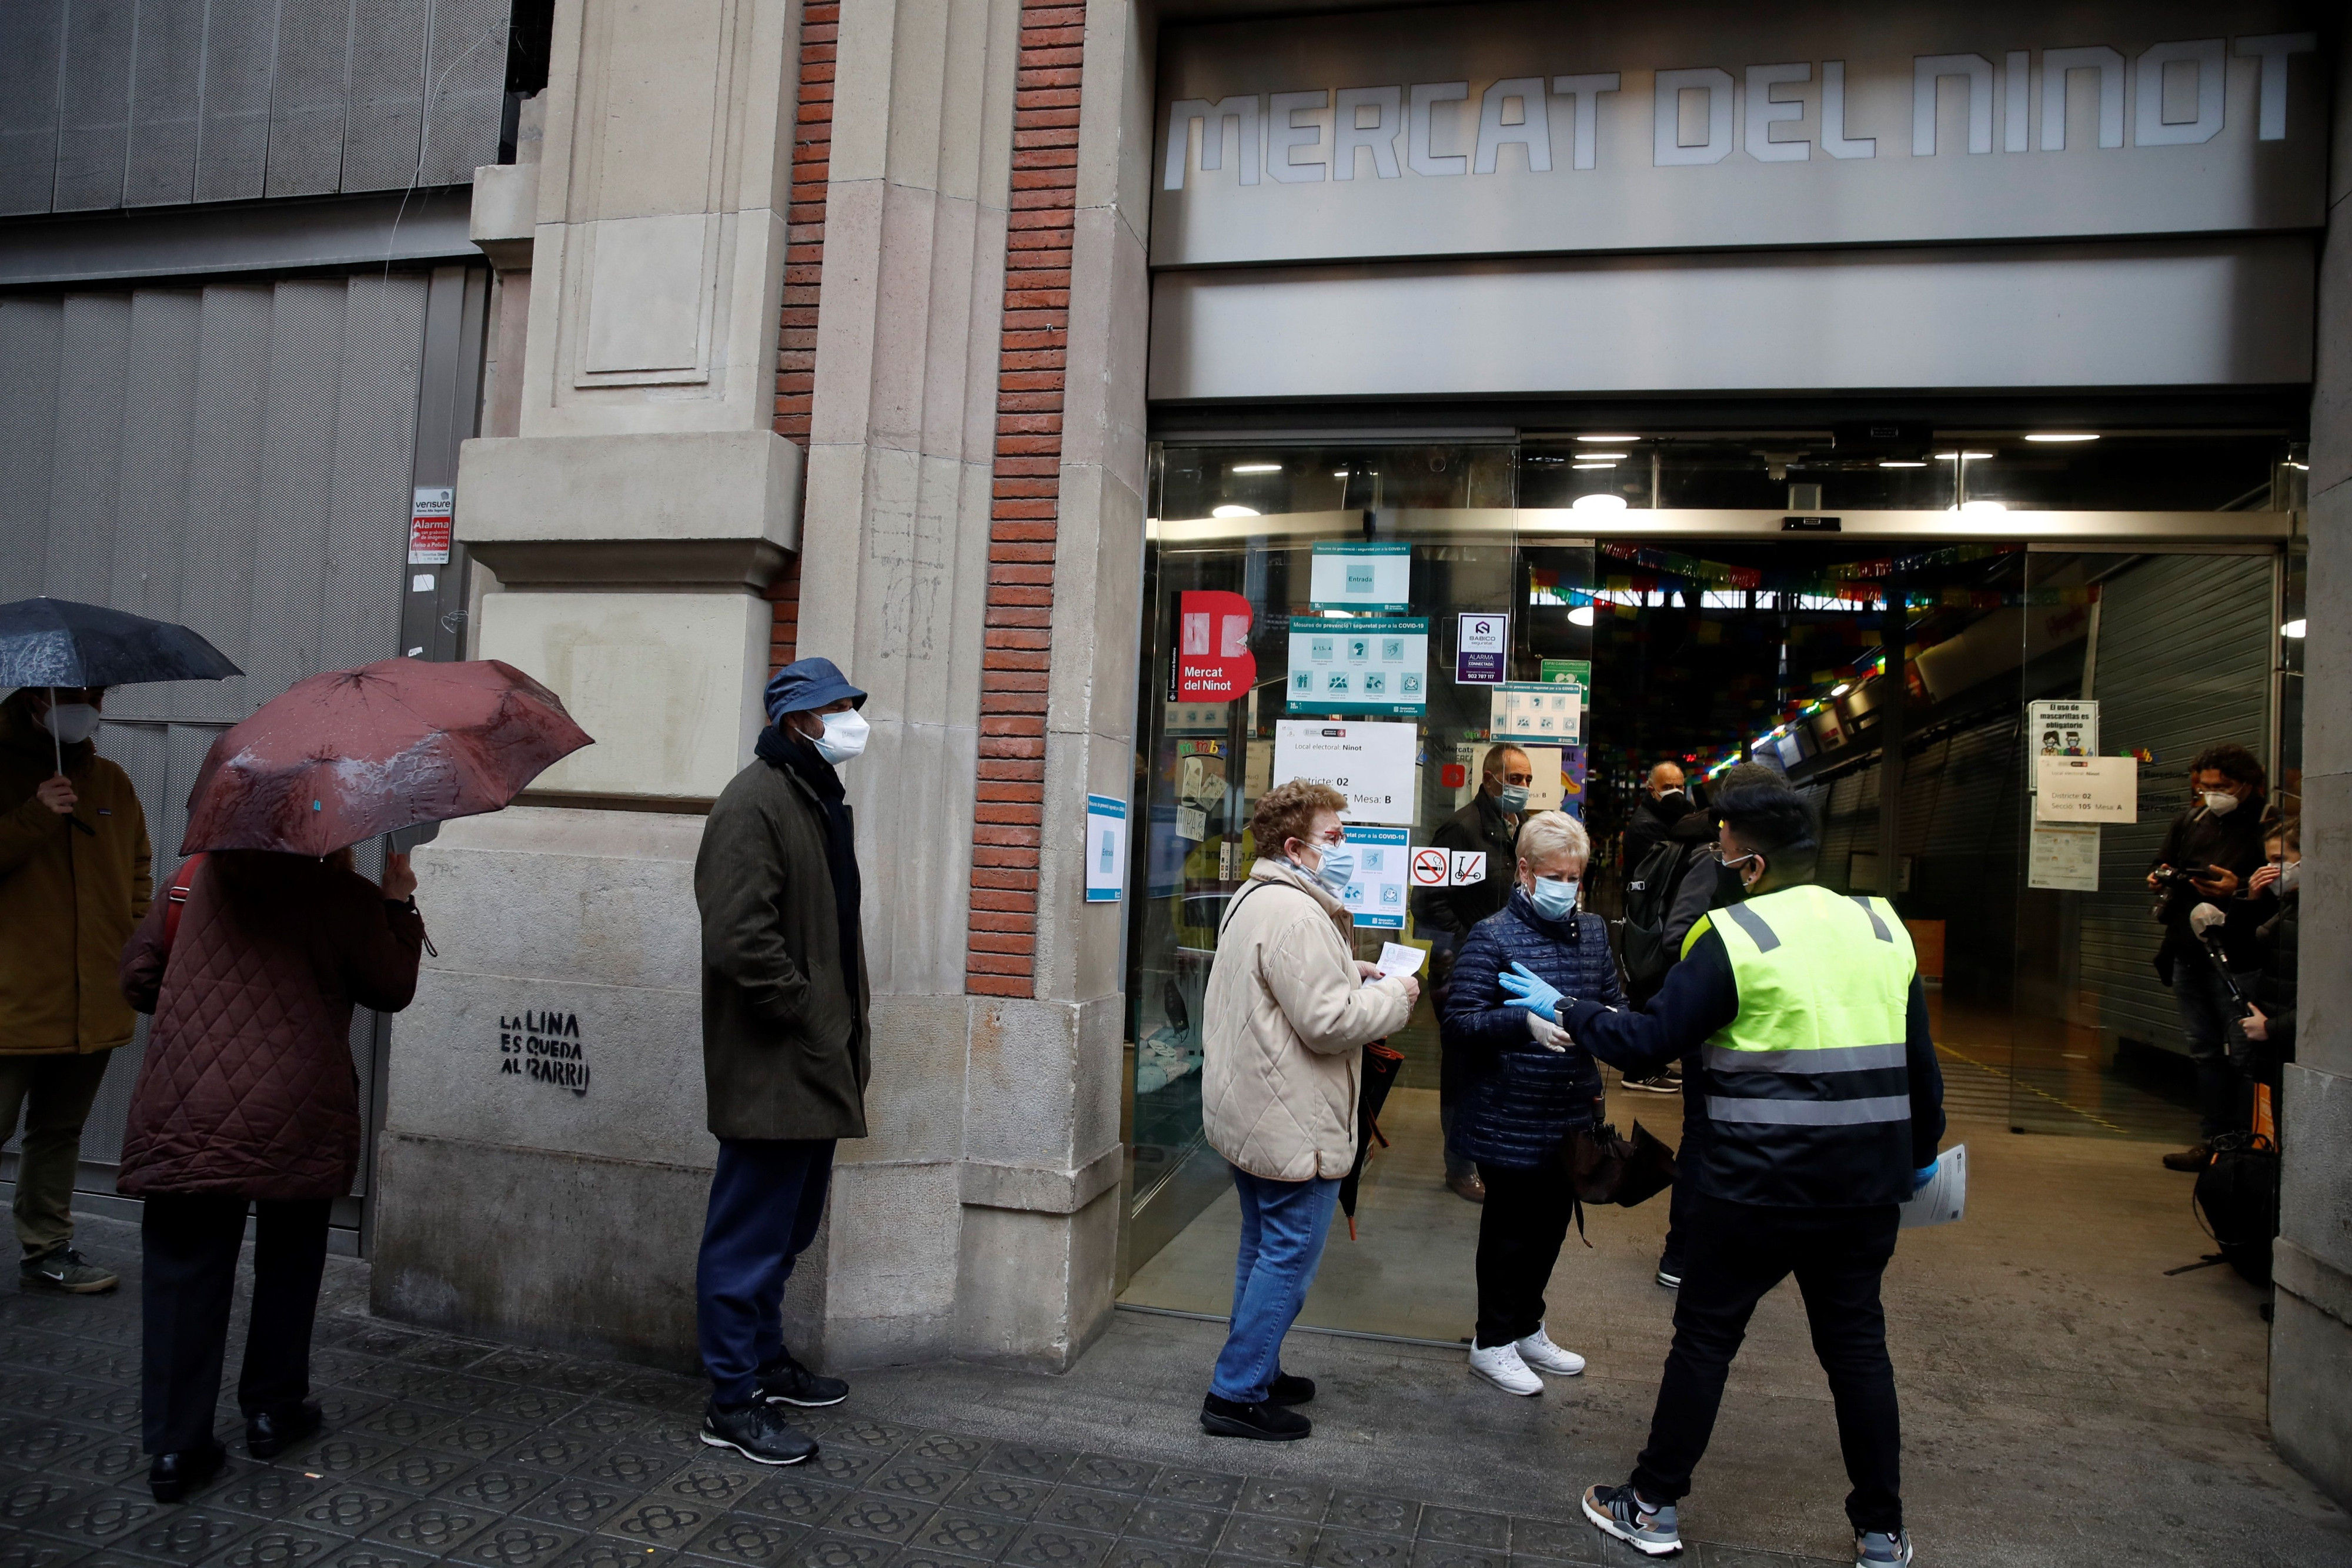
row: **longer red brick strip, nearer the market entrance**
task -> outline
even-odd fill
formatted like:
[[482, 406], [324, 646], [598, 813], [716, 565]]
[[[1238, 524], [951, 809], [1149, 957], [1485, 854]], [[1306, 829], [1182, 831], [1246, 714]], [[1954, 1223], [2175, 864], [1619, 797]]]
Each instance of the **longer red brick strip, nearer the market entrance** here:
[[1070, 336], [1084, 42], [1084, 5], [1021, 2], [988, 527], [988, 651], [981, 663], [981, 778], [964, 950], [964, 987], [993, 997], [1035, 994], [1054, 508], [1061, 491], [1061, 378]]

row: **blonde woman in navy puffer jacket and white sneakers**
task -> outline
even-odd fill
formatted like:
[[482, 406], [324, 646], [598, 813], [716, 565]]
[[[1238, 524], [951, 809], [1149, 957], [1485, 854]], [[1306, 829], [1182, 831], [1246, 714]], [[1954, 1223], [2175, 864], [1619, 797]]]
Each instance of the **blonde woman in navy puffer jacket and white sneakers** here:
[[1566, 997], [1621, 1001], [1609, 933], [1597, 914], [1576, 910], [1588, 856], [1576, 818], [1559, 811], [1526, 818], [1519, 886], [1470, 931], [1446, 994], [1444, 1046], [1470, 1063], [1451, 1147], [1475, 1159], [1486, 1182], [1470, 1371], [1510, 1394], [1543, 1392], [1538, 1373], [1573, 1378], [1585, 1368], [1583, 1356], [1545, 1335], [1543, 1286], [1576, 1206], [1564, 1159], [1569, 1133], [1592, 1124], [1602, 1074], [1564, 1030], [1505, 1006], [1498, 976], [1526, 964]]

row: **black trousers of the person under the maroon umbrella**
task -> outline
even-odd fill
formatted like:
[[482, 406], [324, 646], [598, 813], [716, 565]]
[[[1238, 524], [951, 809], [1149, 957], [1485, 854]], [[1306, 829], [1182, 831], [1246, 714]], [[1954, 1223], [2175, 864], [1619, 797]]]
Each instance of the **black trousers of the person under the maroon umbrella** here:
[[238, 1408], [285, 1410], [310, 1394], [310, 1321], [327, 1269], [329, 1199], [148, 1197], [139, 1220], [146, 1345], [141, 1439], [148, 1453], [212, 1446], [238, 1288], [245, 1211], [254, 1220], [254, 1316], [245, 1333]]

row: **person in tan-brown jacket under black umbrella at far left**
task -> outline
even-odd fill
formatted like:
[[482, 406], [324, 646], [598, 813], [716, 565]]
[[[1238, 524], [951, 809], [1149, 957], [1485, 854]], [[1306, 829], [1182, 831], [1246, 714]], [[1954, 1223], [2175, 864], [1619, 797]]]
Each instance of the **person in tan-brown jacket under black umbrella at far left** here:
[[82, 1124], [136, 1023], [115, 966], [148, 912], [151, 846], [129, 773], [96, 755], [103, 689], [0, 703], [0, 1140], [16, 1157], [19, 1281], [92, 1295], [115, 1274], [73, 1251]]

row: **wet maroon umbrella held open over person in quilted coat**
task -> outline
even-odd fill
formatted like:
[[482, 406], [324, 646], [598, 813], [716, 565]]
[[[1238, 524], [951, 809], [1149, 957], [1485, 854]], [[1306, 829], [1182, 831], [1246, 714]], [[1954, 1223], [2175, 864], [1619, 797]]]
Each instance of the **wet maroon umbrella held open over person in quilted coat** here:
[[325, 856], [379, 832], [496, 811], [593, 745], [515, 665], [386, 658], [294, 682], [205, 755], [179, 853]]

